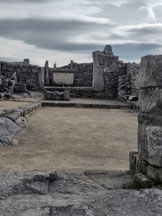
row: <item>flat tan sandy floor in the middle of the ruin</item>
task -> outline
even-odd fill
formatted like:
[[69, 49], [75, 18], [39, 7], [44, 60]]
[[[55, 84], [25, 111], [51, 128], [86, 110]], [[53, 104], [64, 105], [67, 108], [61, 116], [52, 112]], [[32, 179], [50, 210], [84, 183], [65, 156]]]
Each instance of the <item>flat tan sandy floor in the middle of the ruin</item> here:
[[128, 110], [42, 108], [17, 145], [1, 148], [0, 170], [126, 170], [137, 148], [137, 116]]

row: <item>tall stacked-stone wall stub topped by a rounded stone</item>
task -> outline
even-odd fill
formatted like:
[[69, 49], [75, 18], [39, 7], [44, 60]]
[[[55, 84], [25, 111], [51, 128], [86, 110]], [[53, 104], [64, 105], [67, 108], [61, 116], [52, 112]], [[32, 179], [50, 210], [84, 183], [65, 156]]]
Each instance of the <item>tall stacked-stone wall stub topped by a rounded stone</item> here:
[[105, 98], [116, 98], [117, 79], [119, 75], [119, 57], [112, 52], [110, 45], [102, 52], [93, 53], [93, 87], [95, 91], [103, 91]]

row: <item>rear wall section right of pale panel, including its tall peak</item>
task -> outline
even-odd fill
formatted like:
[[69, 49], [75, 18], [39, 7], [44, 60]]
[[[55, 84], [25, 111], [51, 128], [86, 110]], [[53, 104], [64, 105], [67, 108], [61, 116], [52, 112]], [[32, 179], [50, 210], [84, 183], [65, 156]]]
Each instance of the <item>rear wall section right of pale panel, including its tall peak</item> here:
[[93, 52], [93, 61], [93, 87], [99, 97], [128, 99], [138, 95], [138, 64], [119, 61], [110, 45]]

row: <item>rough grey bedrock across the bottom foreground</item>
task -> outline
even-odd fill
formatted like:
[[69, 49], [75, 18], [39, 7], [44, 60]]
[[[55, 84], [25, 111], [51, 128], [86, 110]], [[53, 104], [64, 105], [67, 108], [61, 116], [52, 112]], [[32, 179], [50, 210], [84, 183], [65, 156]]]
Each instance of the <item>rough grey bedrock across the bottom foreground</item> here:
[[162, 191], [109, 190], [82, 172], [0, 174], [1, 216], [160, 216]]

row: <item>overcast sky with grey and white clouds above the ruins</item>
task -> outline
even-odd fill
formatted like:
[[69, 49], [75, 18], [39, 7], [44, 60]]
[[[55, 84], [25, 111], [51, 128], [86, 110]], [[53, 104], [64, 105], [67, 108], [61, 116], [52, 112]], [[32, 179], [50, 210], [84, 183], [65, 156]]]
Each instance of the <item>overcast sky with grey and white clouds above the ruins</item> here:
[[106, 44], [126, 62], [162, 54], [162, 0], [0, 0], [0, 60], [92, 62]]

